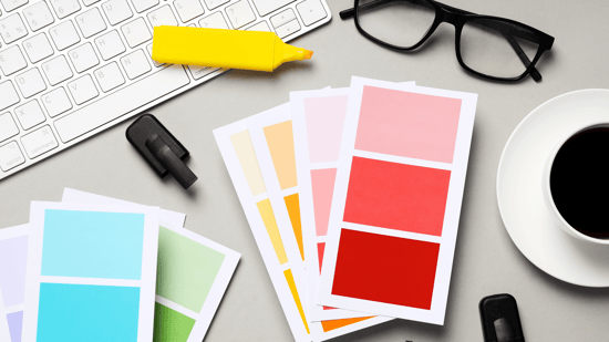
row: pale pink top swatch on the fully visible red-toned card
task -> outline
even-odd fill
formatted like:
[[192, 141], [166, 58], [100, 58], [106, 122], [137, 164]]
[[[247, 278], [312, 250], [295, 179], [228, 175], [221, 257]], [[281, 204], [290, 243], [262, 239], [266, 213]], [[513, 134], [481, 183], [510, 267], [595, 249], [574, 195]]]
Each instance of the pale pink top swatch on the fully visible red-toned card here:
[[355, 149], [453, 163], [461, 100], [364, 86]]

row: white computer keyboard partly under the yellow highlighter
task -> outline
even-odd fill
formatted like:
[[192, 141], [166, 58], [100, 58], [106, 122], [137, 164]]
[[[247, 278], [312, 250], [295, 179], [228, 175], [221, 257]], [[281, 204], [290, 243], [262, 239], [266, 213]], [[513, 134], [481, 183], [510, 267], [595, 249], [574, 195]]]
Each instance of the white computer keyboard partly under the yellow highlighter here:
[[275, 31], [324, 0], [0, 0], [0, 179], [220, 74], [151, 59], [155, 25]]

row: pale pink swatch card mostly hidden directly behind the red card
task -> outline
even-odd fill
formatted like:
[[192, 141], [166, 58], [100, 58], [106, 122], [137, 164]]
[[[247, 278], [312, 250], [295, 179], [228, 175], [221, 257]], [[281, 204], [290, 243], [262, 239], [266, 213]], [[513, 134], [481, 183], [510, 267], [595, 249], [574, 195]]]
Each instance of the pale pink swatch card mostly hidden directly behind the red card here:
[[[414, 82], [400, 84], [411, 87]], [[312, 320], [370, 315], [317, 304], [349, 93], [350, 89], [290, 93], [308, 302]]]

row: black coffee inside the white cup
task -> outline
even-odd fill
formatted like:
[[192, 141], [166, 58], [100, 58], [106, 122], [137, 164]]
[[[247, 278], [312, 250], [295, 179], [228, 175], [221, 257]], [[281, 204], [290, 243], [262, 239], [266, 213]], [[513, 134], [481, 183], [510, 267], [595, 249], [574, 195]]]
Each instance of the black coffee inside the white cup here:
[[560, 147], [551, 166], [550, 190], [571, 227], [609, 239], [609, 128], [584, 131]]

